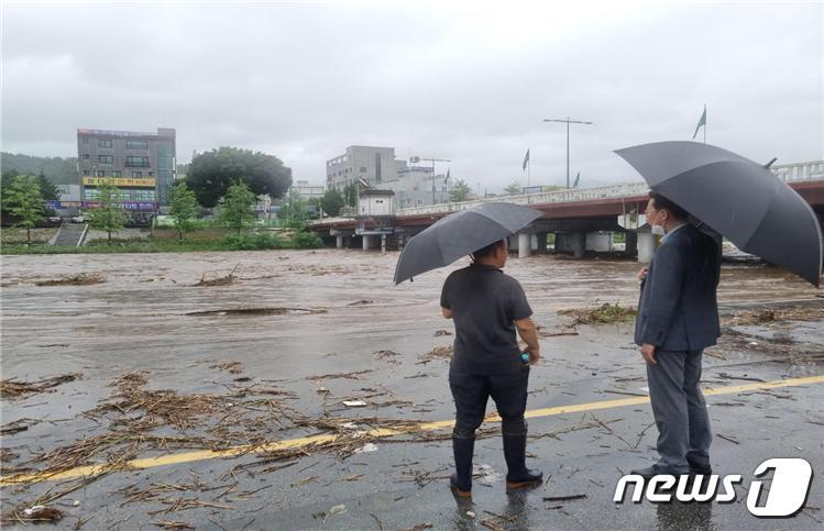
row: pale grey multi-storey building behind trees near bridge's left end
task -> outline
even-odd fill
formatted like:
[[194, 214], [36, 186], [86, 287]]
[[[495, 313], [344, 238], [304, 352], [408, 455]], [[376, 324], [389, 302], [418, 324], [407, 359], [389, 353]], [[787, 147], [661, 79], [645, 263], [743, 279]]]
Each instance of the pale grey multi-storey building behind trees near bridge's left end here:
[[373, 186], [395, 180], [395, 148], [353, 145], [326, 162], [327, 187], [343, 187], [364, 179]]

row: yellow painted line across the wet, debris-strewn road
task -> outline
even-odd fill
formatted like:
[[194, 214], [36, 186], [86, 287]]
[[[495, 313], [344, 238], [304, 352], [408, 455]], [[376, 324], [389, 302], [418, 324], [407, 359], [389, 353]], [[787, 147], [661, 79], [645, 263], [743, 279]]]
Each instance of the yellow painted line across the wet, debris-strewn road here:
[[[759, 381], [754, 384], [744, 384], [738, 386], [718, 387], [714, 389], [705, 389], [704, 396], [718, 396], [718, 395], [737, 395], [740, 392], [756, 391], [760, 389], [776, 389], [780, 387], [799, 387], [807, 384], [823, 384], [824, 375], [809, 376], [804, 378], [790, 378], [776, 381]], [[597, 402], [587, 403], [573, 403], [570, 406], [556, 406], [553, 408], [541, 408], [532, 409], [526, 412], [526, 418], [537, 419], [541, 417], [553, 417], [564, 413], [580, 413], [585, 411], [596, 411], [600, 409], [612, 409], [620, 408], [625, 406], [638, 406], [641, 403], [649, 402], [649, 397], [633, 397], [622, 398], [617, 400], [601, 400]], [[485, 419], [487, 422], [501, 422], [498, 417], [488, 417]], [[408, 429], [386, 429], [378, 428], [366, 432], [366, 436], [371, 438], [386, 438], [393, 435], [403, 435], [414, 432], [426, 432], [436, 431], [452, 428], [454, 424], [453, 420], [441, 420], [438, 422], [425, 422], [418, 424], [415, 428]], [[180, 452], [176, 454], [166, 454], [157, 457], [144, 457], [139, 460], [132, 460], [124, 465], [112, 466], [110, 464], [103, 465], [89, 465], [78, 466], [69, 468], [56, 474], [20, 474], [15, 476], [7, 476], [0, 478], [0, 486], [24, 484], [24, 483], [39, 483], [46, 480], [62, 480], [62, 479], [74, 479], [78, 477], [96, 476], [112, 471], [130, 471], [140, 468], [154, 468], [156, 466], [164, 465], [178, 465], [182, 463], [193, 463], [196, 461], [215, 460], [222, 457], [237, 457], [246, 453], [266, 453], [276, 452], [278, 450], [300, 449], [311, 446], [315, 444], [327, 444], [332, 443], [338, 439], [336, 434], [320, 434], [311, 435], [299, 439], [287, 439], [283, 441], [275, 441], [271, 443], [257, 444], [257, 445], [242, 445], [233, 446], [226, 450], [199, 450], [195, 452]]]

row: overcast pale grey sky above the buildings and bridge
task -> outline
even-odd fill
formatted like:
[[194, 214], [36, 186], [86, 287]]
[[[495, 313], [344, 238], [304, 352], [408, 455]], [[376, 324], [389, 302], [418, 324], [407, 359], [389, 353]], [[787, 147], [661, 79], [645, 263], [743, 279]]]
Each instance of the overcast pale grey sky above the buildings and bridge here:
[[[451, 158], [497, 191], [637, 180], [613, 150], [689, 140], [759, 162], [824, 158], [815, 2], [13, 3], [2, 7], [2, 150], [77, 156], [76, 129], [177, 129], [325, 182], [349, 145]], [[699, 133], [701, 139], [701, 133]], [[440, 173], [440, 168], [439, 173]]]

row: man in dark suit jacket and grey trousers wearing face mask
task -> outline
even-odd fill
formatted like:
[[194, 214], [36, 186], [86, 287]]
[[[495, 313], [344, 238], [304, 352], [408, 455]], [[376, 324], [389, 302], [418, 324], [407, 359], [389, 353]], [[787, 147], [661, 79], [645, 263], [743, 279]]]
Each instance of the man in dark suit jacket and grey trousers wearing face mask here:
[[647, 363], [661, 458], [633, 471], [645, 478], [712, 473], [712, 433], [699, 384], [703, 350], [721, 335], [721, 247], [688, 223], [688, 217], [674, 202], [650, 192], [647, 220], [653, 234], [663, 237], [649, 267], [639, 273], [635, 342]]

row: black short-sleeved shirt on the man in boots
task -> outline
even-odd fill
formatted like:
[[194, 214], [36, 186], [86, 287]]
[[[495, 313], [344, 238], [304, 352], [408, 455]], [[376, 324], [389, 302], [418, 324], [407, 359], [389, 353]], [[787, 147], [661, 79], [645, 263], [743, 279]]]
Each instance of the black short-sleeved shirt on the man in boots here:
[[441, 307], [455, 324], [452, 368], [491, 375], [523, 369], [513, 321], [532, 314], [524, 288], [497, 267], [472, 264], [443, 283]]

